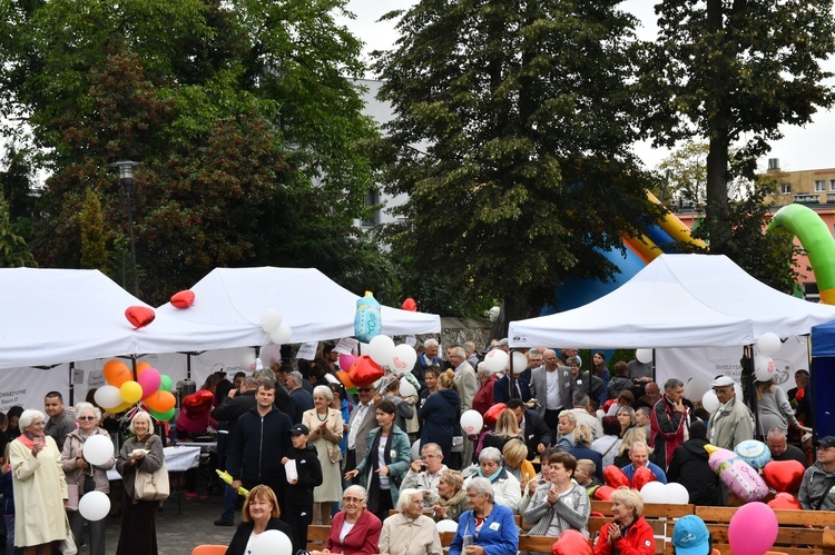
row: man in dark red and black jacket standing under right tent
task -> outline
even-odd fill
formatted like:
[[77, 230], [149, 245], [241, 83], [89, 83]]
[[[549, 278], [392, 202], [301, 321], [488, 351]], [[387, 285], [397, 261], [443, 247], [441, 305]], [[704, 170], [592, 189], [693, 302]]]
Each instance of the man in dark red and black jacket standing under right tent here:
[[687, 407], [681, 403], [684, 397], [685, 384], [678, 378], [668, 379], [664, 384], [664, 395], [649, 415], [649, 445], [655, 449], [652, 462], [665, 470], [669, 467], [676, 447], [685, 442], [689, 423]]

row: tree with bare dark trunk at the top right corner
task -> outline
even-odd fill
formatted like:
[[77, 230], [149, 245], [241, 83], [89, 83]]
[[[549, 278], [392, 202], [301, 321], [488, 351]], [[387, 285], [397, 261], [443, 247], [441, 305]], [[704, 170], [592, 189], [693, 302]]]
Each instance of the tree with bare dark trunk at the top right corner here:
[[667, 0], [656, 12], [659, 39], [647, 48], [641, 77], [646, 127], [657, 145], [708, 141], [710, 248], [729, 252], [728, 181], [754, 177], [780, 125], [806, 123], [835, 100], [823, 82], [831, 73], [821, 69], [835, 51], [832, 1]]

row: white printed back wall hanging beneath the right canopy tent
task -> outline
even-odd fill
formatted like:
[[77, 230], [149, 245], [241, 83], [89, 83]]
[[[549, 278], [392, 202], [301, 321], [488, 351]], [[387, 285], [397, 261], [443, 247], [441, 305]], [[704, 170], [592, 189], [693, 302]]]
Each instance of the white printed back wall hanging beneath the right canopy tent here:
[[[685, 381], [686, 392], [688, 381], [697, 381], [707, 390], [717, 376], [730, 376], [740, 381], [741, 357], [743, 347], [656, 349], [656, 381], [664, 387], [667, 379], [679, 378]], [[807, 337], [789, 337], [772, 358], [777, 366], [777, 385], [792, 389], [795, 387], [795, 371], [809, 369]]]

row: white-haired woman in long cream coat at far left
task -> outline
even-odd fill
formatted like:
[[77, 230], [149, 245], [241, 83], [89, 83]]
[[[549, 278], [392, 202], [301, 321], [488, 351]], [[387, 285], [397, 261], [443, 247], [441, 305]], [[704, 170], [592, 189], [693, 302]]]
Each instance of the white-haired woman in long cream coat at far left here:
[[14, 546], [26, 555], [50, 555], [53, 544], [67, 537], [67, 482], [61, 452], [43, 433], [46, 416], [23, 410], [20, 436], [9, 447], [14, 488]]

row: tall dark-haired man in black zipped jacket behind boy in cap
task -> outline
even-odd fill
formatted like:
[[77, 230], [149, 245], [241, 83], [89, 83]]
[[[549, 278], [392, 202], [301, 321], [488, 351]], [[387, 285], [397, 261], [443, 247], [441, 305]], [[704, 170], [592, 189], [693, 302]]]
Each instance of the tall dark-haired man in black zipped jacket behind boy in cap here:
[[232, 487], [252, 489], [258, 484], [273, 488], [284, 512], [287, 479], [282, 458], [291, 445], [293, 423], [275, 402], [275, 384], [264, 381], [255, 394], [256, 405], [238, 418], [232, 443]]

